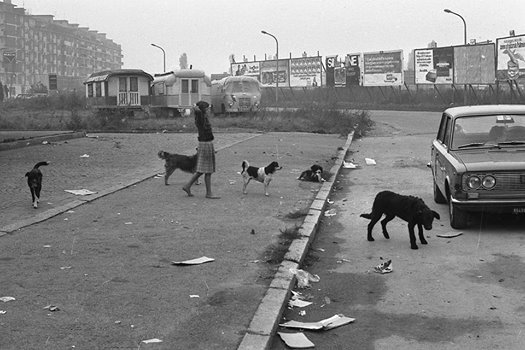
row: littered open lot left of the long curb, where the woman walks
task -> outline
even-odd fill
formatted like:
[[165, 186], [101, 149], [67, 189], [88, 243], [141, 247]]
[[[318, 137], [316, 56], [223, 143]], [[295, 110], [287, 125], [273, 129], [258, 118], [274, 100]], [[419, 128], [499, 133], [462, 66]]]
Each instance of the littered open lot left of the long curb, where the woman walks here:
[[[221, 199], [207, 200], [202, 185], [181, 190], [188, 174], [170, 186], [154, 176], [158, 150], [192, 153], [195, 135], [96, 136], [1, 153], [2, 226], [87, 200], [65, 189], [125, 188], [0, 237], [0, 297], [16, 299], [0, 302], [0, 348], [235, 349], [273, 276], [268, 248], [320, 188], [297, 176], [314, 162], [329, 169], [346, 138], [219, 133]], [[43, 159], [35, 210], [23, 174]], [[269, 197], [258, 183], [242, 194], [243, 159], [281, 163]], [[215, 260], [172, 265], [201, 256]]]

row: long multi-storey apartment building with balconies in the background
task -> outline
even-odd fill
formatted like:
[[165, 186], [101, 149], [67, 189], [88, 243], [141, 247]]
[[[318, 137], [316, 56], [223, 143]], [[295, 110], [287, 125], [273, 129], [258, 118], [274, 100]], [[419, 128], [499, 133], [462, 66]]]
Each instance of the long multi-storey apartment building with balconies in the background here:
[[122, 68], [122, 49], [105, 33], [32, 15], [11, 0], [0, 2], [0, 81], [9, 97], [43, 86], [50, 93], [83, 92], [93, 72]]

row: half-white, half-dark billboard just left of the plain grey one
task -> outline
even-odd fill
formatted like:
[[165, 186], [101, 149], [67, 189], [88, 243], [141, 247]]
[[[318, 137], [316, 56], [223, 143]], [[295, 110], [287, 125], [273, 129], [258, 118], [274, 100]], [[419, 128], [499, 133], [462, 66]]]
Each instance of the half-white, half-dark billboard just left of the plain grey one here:
[[452, 84], [454, 82], [454, 48], [414, 50], [416, 84]]

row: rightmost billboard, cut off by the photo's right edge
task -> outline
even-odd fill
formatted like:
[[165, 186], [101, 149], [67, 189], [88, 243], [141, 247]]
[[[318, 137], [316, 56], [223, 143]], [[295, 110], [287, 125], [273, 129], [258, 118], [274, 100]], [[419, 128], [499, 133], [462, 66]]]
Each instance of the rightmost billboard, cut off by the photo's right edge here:
[[525, 80], [525, 35], [496, 39], [496, 79]]

